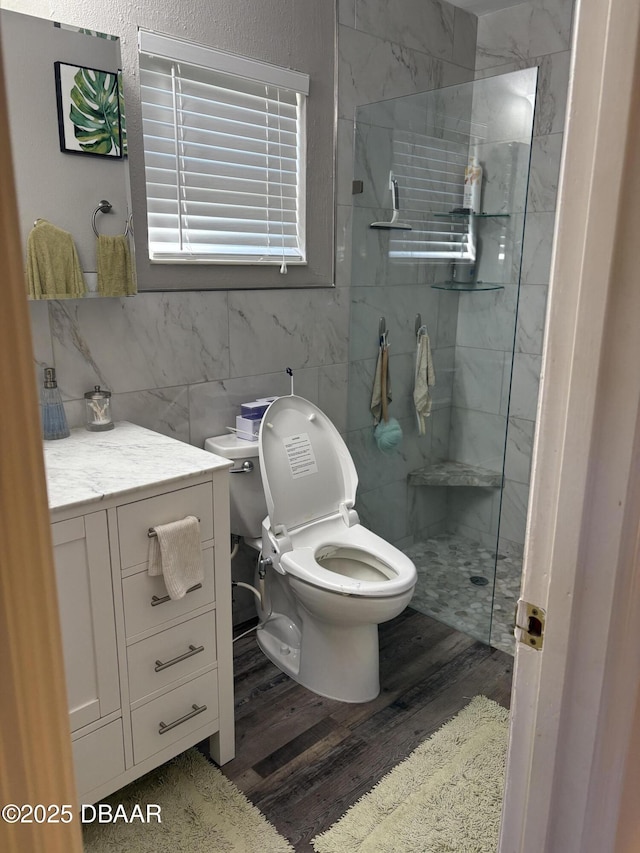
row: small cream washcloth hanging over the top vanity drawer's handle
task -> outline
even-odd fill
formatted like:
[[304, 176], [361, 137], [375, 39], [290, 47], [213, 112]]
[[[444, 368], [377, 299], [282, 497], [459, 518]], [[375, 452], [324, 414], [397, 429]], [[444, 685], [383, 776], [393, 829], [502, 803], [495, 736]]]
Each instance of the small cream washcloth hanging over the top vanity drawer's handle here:
[[163, 575], [169, 597], [184, 598], [204, 578], [200, 522], [194, 515], [158, 524], [149, 539], [149, 574]]

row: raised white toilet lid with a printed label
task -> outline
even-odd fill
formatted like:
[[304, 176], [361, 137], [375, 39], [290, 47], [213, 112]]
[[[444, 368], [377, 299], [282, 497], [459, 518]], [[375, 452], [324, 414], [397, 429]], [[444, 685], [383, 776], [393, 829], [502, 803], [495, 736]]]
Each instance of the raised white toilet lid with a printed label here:
[[302, 397], [279, 397], [260, 427], [260, 470], [272, 530], [288, 531], [355, 503], [358, 475], [329, 418]]

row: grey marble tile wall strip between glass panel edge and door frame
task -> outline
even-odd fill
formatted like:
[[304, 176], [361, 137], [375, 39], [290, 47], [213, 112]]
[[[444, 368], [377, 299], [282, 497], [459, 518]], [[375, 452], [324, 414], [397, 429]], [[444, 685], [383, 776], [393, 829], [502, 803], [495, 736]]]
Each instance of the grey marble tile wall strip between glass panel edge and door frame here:
[[476, 78], [538, 67], [538, 94], [500, 512], [500, 546], [522, 549], [571, 59], [573, 0], [530, 0], [478, 19]]

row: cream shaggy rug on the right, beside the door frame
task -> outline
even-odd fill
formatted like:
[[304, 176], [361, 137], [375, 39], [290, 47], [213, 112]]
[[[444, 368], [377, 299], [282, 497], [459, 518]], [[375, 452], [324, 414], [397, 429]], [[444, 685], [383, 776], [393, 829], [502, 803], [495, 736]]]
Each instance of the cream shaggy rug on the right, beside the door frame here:
[[495, 853], [508, 711], [476, 696], [329, 830], [317, 853]]

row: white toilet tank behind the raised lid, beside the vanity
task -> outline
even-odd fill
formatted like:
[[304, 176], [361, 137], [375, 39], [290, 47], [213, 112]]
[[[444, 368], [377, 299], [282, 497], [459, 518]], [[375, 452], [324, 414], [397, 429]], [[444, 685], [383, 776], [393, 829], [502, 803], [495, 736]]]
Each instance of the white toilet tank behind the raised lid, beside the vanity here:
[[[242, 469], [250, 462], [253, 470], [229, 474], [229, 500], [231, 510], [231, 532], [245, 539], [262, 536], [262, 520], [267, 514], [267, 504], [262, 489], [258, 442], [245, 441], [235, 434], [216, 435], [207, 438], [204, 449], [233, 462], [234, 469]], [[247, 466], [248, 467], [248, 466]]]

